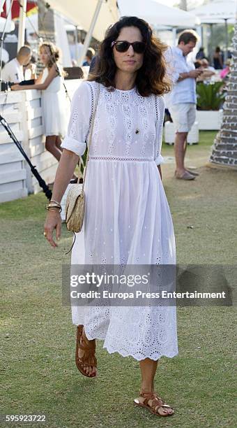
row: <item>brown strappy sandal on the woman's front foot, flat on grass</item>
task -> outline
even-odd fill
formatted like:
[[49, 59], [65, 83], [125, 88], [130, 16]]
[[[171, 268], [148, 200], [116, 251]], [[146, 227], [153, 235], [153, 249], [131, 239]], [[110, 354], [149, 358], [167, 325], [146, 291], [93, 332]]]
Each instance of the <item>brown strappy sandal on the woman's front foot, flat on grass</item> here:
[[[140, 392], [139, 397], [143, 397], [144, 401], [139, 401], [138, 399], [134, 400], [134, 404], [136, 406], [145, 407], [148, 408], [148, 411], [153, 413], [153, 415], [156, 416], [171, 416], [174, 415], [174, 409], [169, 406], [169, 404], [166, 404], [165, 401], [163, 401], [160, 397], [158, 397], [155, 392]], [[152, 400], [151, 404], [148, 404], [148, 401]], [[167, 413], [160, 413], [159, 410], [163, 408], [163, 411], [166, 411]], [[171, 412], [168, 412], [168, 409], [171, 409]]]

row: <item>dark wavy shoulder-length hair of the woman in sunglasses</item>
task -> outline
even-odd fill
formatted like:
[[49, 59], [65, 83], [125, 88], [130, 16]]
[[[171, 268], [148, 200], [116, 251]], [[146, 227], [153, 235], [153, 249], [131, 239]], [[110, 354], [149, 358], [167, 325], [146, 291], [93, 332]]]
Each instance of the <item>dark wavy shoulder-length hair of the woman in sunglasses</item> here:
[[107, 29], [105, 39], [100, 44], [95, 69], [90, 73], [88, 80], [102, 83], [109, 90], [115, 89], [114, 77], [116, 64], [113, 57], [112, 41], [116, 41], [123, 27], [137, 27], [142, 34], [146, 50], [142, 67], [137, 71], [136, 85], [142, 97], [151, 94], [162, 95], [169, 92], [171, 83], [166, 76], [165, 58], [163, 52], [167, 45], [153, 36], [149, 24], [135, 16], [124, 16], [112, 27]]

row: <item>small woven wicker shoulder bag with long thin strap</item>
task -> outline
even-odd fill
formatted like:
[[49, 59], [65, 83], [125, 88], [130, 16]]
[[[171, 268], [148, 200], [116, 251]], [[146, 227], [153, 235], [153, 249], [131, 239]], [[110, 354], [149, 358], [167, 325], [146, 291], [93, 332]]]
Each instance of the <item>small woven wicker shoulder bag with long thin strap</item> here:
[[[95, 112], [98, 106], [99, 96], [100, 96], [100, 85], [98, 84], [98, 94], [95, 101], [95, 110], [93, 111], [93, 117], [91, 120], [91, 131], [89, 134], [89, 143], [88, 143], [88, 150], [86, 155], [86, 165], [84, 169], [83, 183], [82, 184], [79, 183], [79, 176], [78, 176], [77, 183], [71, 186], [70, 190], [68, 191], [68, 196], [66, 199], [66, 225], [67, 225], [67, 229], [73, 232], [79, 232], [82, 230], [82, 224], [84, 220], [84, 213], [85, 213], [84, 183], [86, 180], [86, 166], [88, 162], [89, 148], [91, 145], [91, 138], [93, 134], [93, 124], [95, 120]], [[82, 159], [81, 157], [79, 157], [79, 171], [81, 171], [81, 163], [82, 163]]]

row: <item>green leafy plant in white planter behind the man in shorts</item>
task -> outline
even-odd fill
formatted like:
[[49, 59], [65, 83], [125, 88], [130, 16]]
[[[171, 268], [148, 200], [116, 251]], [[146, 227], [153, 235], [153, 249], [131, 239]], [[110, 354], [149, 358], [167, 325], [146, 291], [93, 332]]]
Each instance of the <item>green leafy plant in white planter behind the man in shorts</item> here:
[[197, 84], [197, 120], [201, 130], [218, 130], [222, 122], [224, 82]]

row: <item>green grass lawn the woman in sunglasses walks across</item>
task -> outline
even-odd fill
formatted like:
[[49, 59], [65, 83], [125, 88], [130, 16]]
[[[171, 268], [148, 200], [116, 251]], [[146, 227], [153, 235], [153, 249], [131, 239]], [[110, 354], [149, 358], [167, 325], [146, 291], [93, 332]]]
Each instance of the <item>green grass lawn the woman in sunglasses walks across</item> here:
[[[174, 178], [174, 164], [162, 166], [180, 264], [236, 263], [237, 173], [206, 166], [214, 135], [203, 132], [188, 148], [188, 164], [200, 172], [192, 183]], [[174, 157], [173, 150], [163, 145], [162, 155]], [[75, 326], [61, 304], [71, 236], [63, 224], [59, 248], [49, 247], [45, 203], [40, 193], [0, 205], [1, 413], [45, 414], [47, 427], [60, 428], [236, 427], [234, 308], [178, 308], [179, 355], [162, 358], [155, 378], [157, 392], [175, 408], [171, 418], [132, 405], [139, 364], [109, 355], [102, 342], [98, 378], [77, 371]]]

